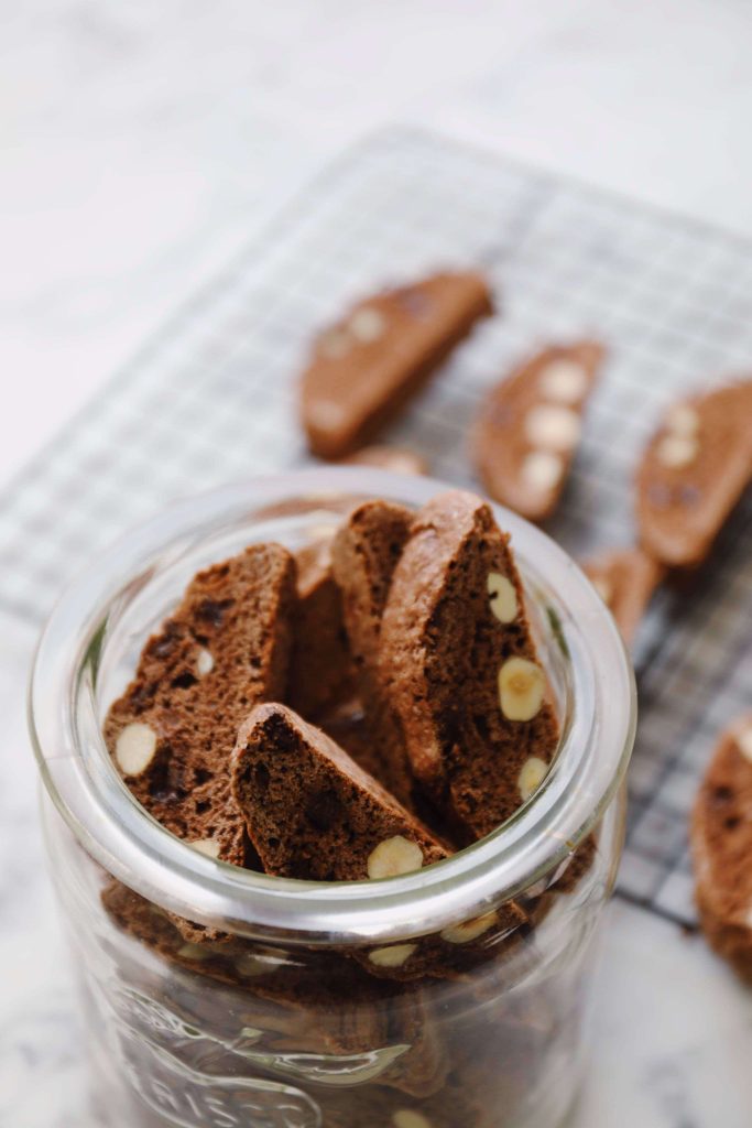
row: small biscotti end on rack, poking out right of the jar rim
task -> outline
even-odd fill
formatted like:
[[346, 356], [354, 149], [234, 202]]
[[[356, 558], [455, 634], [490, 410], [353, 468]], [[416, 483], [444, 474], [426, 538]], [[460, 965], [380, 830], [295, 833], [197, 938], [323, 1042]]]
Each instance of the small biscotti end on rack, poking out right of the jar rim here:
[[663, 566], [639, 548], [616, 548], [591, 557], [582, 567], [629, 645], [663, 579]]

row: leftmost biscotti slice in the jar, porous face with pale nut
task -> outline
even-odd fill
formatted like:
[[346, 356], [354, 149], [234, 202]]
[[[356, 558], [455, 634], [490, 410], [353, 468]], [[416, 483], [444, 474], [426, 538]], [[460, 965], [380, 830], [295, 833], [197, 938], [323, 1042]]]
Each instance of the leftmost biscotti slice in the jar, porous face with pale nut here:
[[113, 759], [150, 814], [236, 865], [247, 860], [246, 834], [230, 754], [254, 705], [286, 688], [294, 603], [294, 563], [280, 545], [200, 572], [105, 722]]

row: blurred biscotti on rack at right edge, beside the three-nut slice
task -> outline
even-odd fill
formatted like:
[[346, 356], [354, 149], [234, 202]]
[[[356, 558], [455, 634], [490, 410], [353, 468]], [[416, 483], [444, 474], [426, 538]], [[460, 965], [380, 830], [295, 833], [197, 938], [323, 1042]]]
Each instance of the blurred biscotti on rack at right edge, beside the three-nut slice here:
[[637, 473], [637, 525], [646, 553], [696, 567], [752, 477], [752, 381], [674, 404]]

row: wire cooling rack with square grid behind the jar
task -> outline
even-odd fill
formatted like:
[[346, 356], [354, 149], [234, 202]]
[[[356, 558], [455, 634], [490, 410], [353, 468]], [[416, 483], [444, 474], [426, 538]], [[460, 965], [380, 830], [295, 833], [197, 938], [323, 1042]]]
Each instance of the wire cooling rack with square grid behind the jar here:
[[[321, 176], [0, 496], [0, 606], [39, 623], [68, 576], [166, 501], [304, 465], [295, 378], [315, 327], [373, 288], [474, 263], [503, 314], [389, 439], [474, 485], [467, 432], [484, 389], [540, 343], [595, 335], [608, 370], [550, 531], [575, 556], [628, 544], [635, 461], [663, 406], [752, 362], [752, 245], [400, 129]], [[655, 600], [636, 651], [619, 891], [684, 924], [697, 779], [718, 730], [750, 705], [749, 502], [691, 589]]]

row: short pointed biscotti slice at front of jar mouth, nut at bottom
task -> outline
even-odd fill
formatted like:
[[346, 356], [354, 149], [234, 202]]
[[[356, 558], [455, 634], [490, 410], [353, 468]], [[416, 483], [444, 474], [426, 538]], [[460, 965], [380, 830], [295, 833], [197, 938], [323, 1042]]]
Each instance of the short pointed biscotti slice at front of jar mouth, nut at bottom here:
[[259, 705], [240, 726], [232, 793], [276, 876], [375, 880], [446, 857], [389, 792], [284, 705]]

